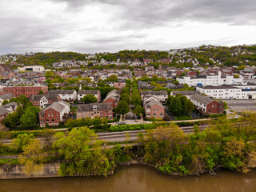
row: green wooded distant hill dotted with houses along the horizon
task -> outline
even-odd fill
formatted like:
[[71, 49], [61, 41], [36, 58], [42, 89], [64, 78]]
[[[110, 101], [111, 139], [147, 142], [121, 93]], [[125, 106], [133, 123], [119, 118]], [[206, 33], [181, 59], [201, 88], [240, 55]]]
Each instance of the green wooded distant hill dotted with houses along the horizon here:
[[95, 58], [86, 58], [88, 54], [75, 52], [50, 52], [36, 53], [32, 56], [20, 56], [18, 63], [24, 65], [50, 65], [62, 60], [97, 60], [105, 59], [108, 62], [129, 62], [134, 59], [154, 59], [157, 62], [161, 58], [170, 58], [170, 66], [187, 67], [194, 66], [256, 66], [256, 46], [199, 46], [170, 51], [158, 50], [121, 50], [118, 53], [99, 53]]

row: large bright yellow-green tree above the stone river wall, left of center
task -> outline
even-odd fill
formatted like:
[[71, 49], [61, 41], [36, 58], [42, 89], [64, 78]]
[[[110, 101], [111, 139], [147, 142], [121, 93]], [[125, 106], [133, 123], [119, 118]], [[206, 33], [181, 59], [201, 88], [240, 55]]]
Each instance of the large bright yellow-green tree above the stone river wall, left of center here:
[[[93, 130], [86, 127], [72, 129], [69, 134], [58, 132], [54, 138], [54, 150], [62, 154], [66, 162], [62, 163], [58, 174], [61, 176], [73, 176], [74, 174], [96, 174], [106, 175], [113, 170], [114, 163], [109, 162], [106, 154], [102, 153], [102, 148], [96, 139]], [[94, 147], [91, 150], [90, 147]]]

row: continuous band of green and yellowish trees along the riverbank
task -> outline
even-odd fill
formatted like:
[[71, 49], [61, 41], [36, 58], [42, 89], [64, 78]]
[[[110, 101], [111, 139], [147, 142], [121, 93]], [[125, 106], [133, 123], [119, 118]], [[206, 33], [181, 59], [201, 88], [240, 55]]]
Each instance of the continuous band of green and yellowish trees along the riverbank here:
[[[129, 137], [129, 135], [127, 135]], [[0, 147], [1, 154], [19, 154], [18, 161], [26, 175], [33, 175], [43, 164], [59, 162], [58, 175], [112, 174], [118, 164], [136, 163], [153, 166], [167, 174], [200, 174], [217, 167], [247, 173], [256, 167], [256, 114], [242, 118], [218, 118], [206, 130], [194, 125], [193, 134], [184, 134], [176, 125], [158, 126], [138, 133], [136, 143], [125, 146], [95, 139], [86, 127], [54, 134], [43, 145], [33, 134], [19, 134], [11, 146]], [[128, 163], [129, 164], [129, 163]]]

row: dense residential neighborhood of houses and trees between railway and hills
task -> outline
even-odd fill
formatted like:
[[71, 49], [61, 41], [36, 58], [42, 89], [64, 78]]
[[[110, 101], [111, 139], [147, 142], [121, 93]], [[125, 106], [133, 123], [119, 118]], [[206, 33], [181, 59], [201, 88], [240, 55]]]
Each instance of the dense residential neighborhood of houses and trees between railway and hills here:
[[[193, 56], [207, 49], [218, 47], [143, 50], [144, 58], [140, 58], [138, 51], [134, 55], [139, 57], [133, 59], [128, 57], [133, 53], [129, 51], [120, 58], [110, 53], [84, 54], [83, 58], [79, 57], [82, 60], [64, 59], [44, 66], [26, 65], [27, 59], [37, 53], [2, 55], [1, 121], [6, 123], [3, 120], [10, 114], [5, 106], [18, 101], [22, 95], [41, 110], [38, 123], [42, 127], [63, 126], [69, 118], [105, 117], [109, 121], [121, 121], [120, 115], [125, 111], [129, 115], [122, 117], [146, 120], [177, 119], [181, 115], [182, 118], [199, 118], [226, 113], [223, 106], [226, 100], [256, 99], [255, 66], [247, 60], [237, 66], [225, 66], [220, 57], [203, 61]], [[230, 52], [252, 54], [250, 46], [238, 46]], [[174, 107], [181, 109], [181, 106], [171, 106], [171, 103], [188, 107], [187, 102], [184, 106], [182, 97], [190, 101], [190, 109], [178, 113]], [[182, 104], [178, 100], [172, 102], [173, 98]], [[129, 108], [122, 108], [124, 102]], [[49, 114], [50, 110], [53, 113]], [[48, 114], [54, 118], [48, 118]]]

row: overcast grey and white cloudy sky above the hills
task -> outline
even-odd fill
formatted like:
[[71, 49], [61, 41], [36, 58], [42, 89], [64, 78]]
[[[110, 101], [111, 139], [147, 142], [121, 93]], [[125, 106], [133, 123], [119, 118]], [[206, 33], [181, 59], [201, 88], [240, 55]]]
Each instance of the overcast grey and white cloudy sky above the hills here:
[[0, 1], [0, 54], [255, 43], [255, 0]]

